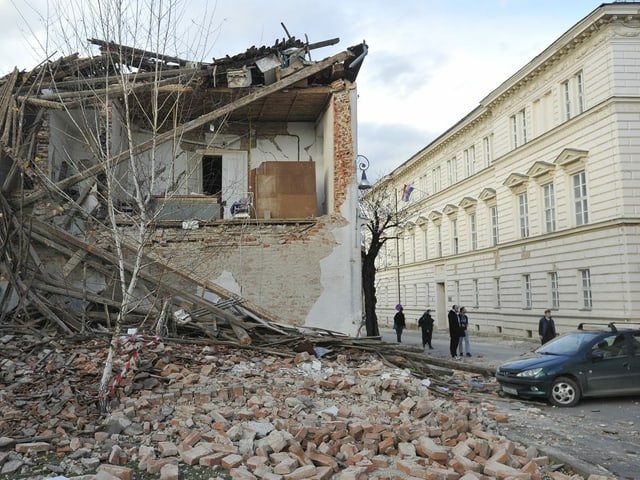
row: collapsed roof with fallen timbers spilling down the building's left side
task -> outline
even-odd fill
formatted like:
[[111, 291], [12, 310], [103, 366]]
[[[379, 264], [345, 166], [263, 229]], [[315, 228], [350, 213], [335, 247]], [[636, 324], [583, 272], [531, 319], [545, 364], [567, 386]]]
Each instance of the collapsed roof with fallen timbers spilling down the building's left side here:
[[[202, 63], [96, 39], [89, 41], [100, 47], [100, 55], [81, 58], [74, 54], [47, 61], [31, 71], [15, 69], [0, 80], [0, 324], [6, 318], [19, 322], [44, 319], [65, 333], [73, 333], [86, 328], [85, 314], [69, 308], [74, 302], [81, 300], [84, 311], [87, 302], [95, 304], [94, 311], [102, 311], [104, 316], [103, 325], [109, 325], [109, 312], [121, 307], [118, 299], [81, 292], [77, 286], [70, 286], [72, 282], [66, 278], [52, 278], [43, 268], [36, 250], [24, 250], [32, 244], [55, 249], [67, 258], [65, 271], [69, 273], [77, 262], [117, 270], [118, 259], [109, 247], [96, 246], [87, 239], [89, 235], [72, 236], [65, 231], [70, 221], [42, 222], [30, 212], [25, 213], [28, 212], [25, 209], [46, 199], [53, 211], [77, 214], [82, 210], [81, 199], [74, 199], [70, 208], [58, 210], [55, 206], [69, 202], [65, 191], [70, 186], [100, 174], [107, 164], [114, 165], [144, 152], [152, 143], [207, 128], [218, 118], [250, 118], [262, 122], [315, 120], [326, 109], [331, 84], [337, 80], [355, 80], [367, 54], [367, 45], [362, 43], [315, 62], [310, 60], [310, 51], [333, 45], [337, 39], [310, 44], [289, 38], [270, 47], [251, 47], [233, 57]], [[123, 85], [126, 88], [123, 89]], [[163, 127], [157, 130], [155, 138], [51, 183], [46, 167], [39, 165], [39, 149], [43, 147], [38, 136], [46, 123], [47, 111], [68, 112], [86, 107], [100, 110], [107, 104], [106, 100], [128, 96], [132, 105], [130, 114], [144, 129], [153, 108], [150, 102], [153, 92], [159, 97], [156, 107], [159, 116], [173, 115], [171, 122], [160, 123]], [[164, 102], [164, 99], [171, 101]], [[165, 108], [168, 104], [173, 107]], [[91, 228], [96, 227], [100, 225], [91, 224]], [[101, 234], [104, 232], [92, 233], [94, 239]], [[102, 247], [106, 244], [108, 241]], [[149, 261], [153, 263], [157, 259]], [[130, 265], [125, 268], [132, 269]], [[180, 272], [180, 285], [192, 283], [192, 287], [180, 291], [176, 290], [177, 282], [160, 281], [163, 275], [167, 274], [141, 277], [143, 290], [149, 294], [141, 310], [143, 315], [160, 315], [158, 305], [164, 301], [160, 297], [168, 294], [174, 306], [186, 299], [214, 319], [235, 321], [234, 314], [224, 311], [216, 302], [189, 293], [194, 286], [201, 287], [199, 281]], [[54, 288], [61, 284], [64, 285], [61, 290]], [[220, 301], [242, 302], [244, 314], [278, 320], [249, 302], [234, 300], [233, 295], [215, 285], [208, 286], [207, 290], [214, 291]], [[245, 341], [246, 337], [240, 340]]]

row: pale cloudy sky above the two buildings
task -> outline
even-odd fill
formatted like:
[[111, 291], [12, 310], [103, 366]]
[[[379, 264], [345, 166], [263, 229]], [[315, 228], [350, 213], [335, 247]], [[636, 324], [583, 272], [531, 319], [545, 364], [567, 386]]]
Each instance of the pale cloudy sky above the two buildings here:
[[[33, 39], [45, 38], [45, 19], [77, 10], [56, 8], [59, 1], [0, 0], [0, 75], [14, 66], [33, 68], [43, 60]], [[601, 3], [185, 0], [179, 8], [183, 25], [211, 19], [209, 59], [242, 53], [252, 45], [272, 45], [286, 36], [281, 22], [289, 34], [299, 39], [306, 35], [312, 43], [340, 38], [337, 45], [312, 51], [313, 60], [365, 40], [369, 54], [357, 79], [358, 151], [371, 162], [369, 178], [376, 179], [473, 110]]]

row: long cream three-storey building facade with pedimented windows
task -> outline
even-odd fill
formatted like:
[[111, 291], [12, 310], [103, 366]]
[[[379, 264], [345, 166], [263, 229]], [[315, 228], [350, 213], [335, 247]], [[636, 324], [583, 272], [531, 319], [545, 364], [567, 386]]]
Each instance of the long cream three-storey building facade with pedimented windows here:
[[410, 211], [382, 324], [396, 303], [536, 339], [547, 308], [560, 332], [640, 321], [640, 3], [596, 8], [380, 184]]

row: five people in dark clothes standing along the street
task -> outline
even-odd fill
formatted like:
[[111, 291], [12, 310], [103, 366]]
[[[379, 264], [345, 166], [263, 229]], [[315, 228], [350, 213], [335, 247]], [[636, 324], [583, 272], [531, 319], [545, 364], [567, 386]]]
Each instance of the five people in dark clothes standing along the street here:
[[[451, 358], [459, 359], [465, 355], [465, 352], [466, 356], [470, 357], [471, 344], [469, 342], [469, 316], [467, 315], [467, 309], [453, 305], [447, 317], [449, 320], [449, 352], [451, 353]], [[427, 309], [418, 320], [418, 326], [422, 331], [422, 348], [427, 348], [428, 345], [429, 349], [433, 349], [431, 339], [433, 337], [434, 323], [430, 309]], [[396, 314], [393, 317], [393, 329], [396, 331], [398, 343], [402, 343], [402, 331], [406, 325], [404, 309], [401, 304], [398, 304], [396, 305]], [[542, 344], [557, 335], [555, 322], [551, 318], [551, 310], [549, 309], [544, 311], [544, 316], [538, 322], [538, 334]]]

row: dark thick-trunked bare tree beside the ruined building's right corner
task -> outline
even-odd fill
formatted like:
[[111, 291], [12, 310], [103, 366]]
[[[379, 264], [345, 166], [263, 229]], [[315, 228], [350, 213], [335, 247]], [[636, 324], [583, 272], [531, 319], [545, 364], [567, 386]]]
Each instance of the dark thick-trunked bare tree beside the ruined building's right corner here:
[[406, 221], [408, 212], [406, 209], [398, 209], [397, 191], [388, 182], [382, 182], [367, 191], [361, 199], [360, 209], [366, 219], [361, 250], [365, 325], [367, 336], [379, 336], [376, 314], [376, 259], [387, 241], [397, 241], [398, 230]]

